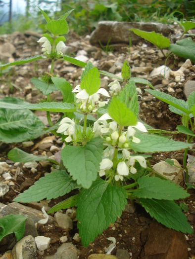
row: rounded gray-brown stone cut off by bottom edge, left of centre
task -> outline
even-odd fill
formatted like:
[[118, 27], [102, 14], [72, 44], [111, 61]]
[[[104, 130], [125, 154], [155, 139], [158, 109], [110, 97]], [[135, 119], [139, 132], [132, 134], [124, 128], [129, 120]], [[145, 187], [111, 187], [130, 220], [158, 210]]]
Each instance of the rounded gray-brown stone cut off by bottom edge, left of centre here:
[[70, 243], [64, 243], [58, 247], [57, 252], [53, 256], [46, 256], [44, 259], [78, 259], [80, 251]]

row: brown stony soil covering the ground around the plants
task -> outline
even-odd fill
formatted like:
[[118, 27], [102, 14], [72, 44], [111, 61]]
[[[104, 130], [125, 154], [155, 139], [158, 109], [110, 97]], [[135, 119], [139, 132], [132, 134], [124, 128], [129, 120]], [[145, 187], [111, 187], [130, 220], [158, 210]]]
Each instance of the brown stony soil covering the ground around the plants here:
[[[100, 26], [102, 26], [102, 23]], [[108, 29], [106, 29], [107, 26]], [[153, 24], [147, 26], [147, 31], [161, 32], [170, 37], [173, 42], [181, 34], [176, 25], [171, 28], [166, 27], [164, 31], [162, 25], [157, 25], [155, 28]], [[98, 29], [101, 35], [98, 34], [97, 30], [91, 38], [88, 35], [78, 37], [70, 32], [69, 39], [66, 41], [66, 54], [73, 55], [84, 62], [91, 61], [98, 69], [118, 75], [120, 75], [123, 62], [127, 60], [132, 68], [132, 76], [145, 78], [159, 91], [168, 93], [178, 99], [187, 100], [190, 93], [195, 91], [195, 65], [190, 60], [186, 61], [171, 56], [166, 64], [169, 69], [166, 69], [163, 67], [165, 58], [161, 52], [141, 38], [133, 39], [133, 35], [131, 35], [132, 46], [129, 46], [128, 42], [123, 39], [121, 41], [120, 38], [115, 40], [114, 36], [120, 34], [122, 38], [126, 33], [129, 33], [129, 26], [126, 28], [126, 25], [124, 25], [122, 28], [124, 31], [121, 34], [121, 25], [116, 24], [116, 27], [114, 27], [114, 24], [105, 23], [103, 29], [102, 27], [101, 30]], [[108, 32], [113, 34], [111, 45], [108, 48], [109, 51], [106, 53], [100, 46], [97, 46], [97, 43], [99, 38], [109, 37]], [[12, 62], [41, 54], [41, 46], [37, 43], [40, 37], [42, 36], [34, 32], [25, 32], [24, 34], [16, 32], [12, 35], [0, 36], [1, 62]], [[106, 42], [103, 42], [103, 44], [106, 44]], [[31, 103], [44, 99], [45, 97], [34, 87], [30, 78], [38, 77], [45, 71], [49, 72], [49, 65], [49, 61], [40, 60], [23, 66], [12, 67], [0, 77], [0, 99], [5, 96], [13, 96], [23, 98]], [[60, 60], [55, 62], [54, 74], [64, 77], [73, 87], [80, 83], [81, 73], [82, 68], [73, 66], [68, 62]], [[112, 78], [101, 75], [101, 87], [109, 90], [108, 84], [112, 80]], [[138, 87], [142, 89], [143, 93], [140, 98], [141, 119], [156, 129], [175, 131], [177, 125], [181, 125], [181, 117], [169, 111], [168, 105], [146, 93], [144, 89], [148, 89], [147, 86], [138, 85]], [[53, 92], [51, 100], [61, 101], [60, 92]], [[46, 112], [36, 111], [35, 113], [48, 126]], [[60, 115], [57, 113], [51, 114], [52, 121], [57, 121]], [[186, 141], [184, 135], [174, 135], [174, 139]], [[59, 138], [49, 134], [24, 143], [0, 143], [0, 217], [8, 214], [22, 214], [31, 217], [25, 223], [24, 238], [16, 243], [14, 235], [11, 234], [0, 242], [0, 259], [195, 258], [195, 234], [184, 235], [152, 221], [146, 211], [138, 204], [129, 203], [122, 216], [114, 224], [110, 224], [109, 228], [103, 231], [87, 248], [84, 248], [78, 235], [76, 208], [62, 210], [55, 215], [51, 214], [46, 224], [39, 223], [40, 220], [45, 219], [42, 212], [43, 206], [48, 211], [49, 208], [66, 199], [73, 192], [55, 200], [44, 200], [29, 204], [14, 203], [13, 199], [20, 192], [29, 188], [40, 177], [50, 173], [53, 167], [49, 162], [43, 160], [26, 164], [14, 163], [7, 158], [8, 151], [17, 147], [32, 154], [48, 155], [58, 161], [62, 145], [63, 143]], [[158, 152], [154, 154], [150, 162], [153, 166], [166, 158], [175, 158], [182, 164], [183, 153], [183, 150]], [[193, 151], [189, 153], [188, 159], [194, 159]], [[162, 164], [160, 164], [160, 167], [162, 167]], [[171, 173], [170, 168], [167, 170], [167, 174], [169, 173]], [[174, 174], [175, 179], [173, 179], [172, 173], [168, 177], [183, 186], [183, 174], [179, 171]], [[190, 181], [195, 183], [193, 168]], [[191, 196], [185, 199], [189, 206], [189, 210], [185, 214], [194, 228], [195, 192], [193, 189], [188, 190], [188, 192]], [[38, 236], [42, 237], [39, 238]], [[109, 237], [116, 239], [115, 245], [113, 244], [114, 239], [108, 240]], [[107, 255], [105, 255], [106, 253]]]

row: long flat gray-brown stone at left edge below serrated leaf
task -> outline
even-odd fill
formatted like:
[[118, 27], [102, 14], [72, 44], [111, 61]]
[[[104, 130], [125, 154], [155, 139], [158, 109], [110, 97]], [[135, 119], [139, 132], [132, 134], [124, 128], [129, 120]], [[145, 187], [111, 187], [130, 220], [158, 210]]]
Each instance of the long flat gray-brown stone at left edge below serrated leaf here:
[[[17, 202], [9, 203], [7, 206], [3, 207], [0, 212], [0, 218], [9, 214], [14, 214], [14, 215], [19, 214], [25, 217], [31, 217], [34, 223], [37, 223], [38, 221], [45, 219], [41, 211], [32, 209], [30, 207], [24, 206]], [[49, 216], [48, 224], [52, 224], [52, 223], [53, 223], [53, 217]]]

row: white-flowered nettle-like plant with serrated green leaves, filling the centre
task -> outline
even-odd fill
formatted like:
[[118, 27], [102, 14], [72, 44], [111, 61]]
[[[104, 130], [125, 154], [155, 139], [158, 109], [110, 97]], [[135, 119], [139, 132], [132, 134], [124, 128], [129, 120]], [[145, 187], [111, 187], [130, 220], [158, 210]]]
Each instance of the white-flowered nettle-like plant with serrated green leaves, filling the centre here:
[[[1, 100], [1, 110], [8, 114], [8, 120], [0, 121], [0, 139], [10, 142], [10, 135], [13, 135], [11, 142], [14, 142], [51, 132], [60, 136], [66, 146], [61, 151], [59, 169], [40, 178], [14, 201], [26, 203], [57, 198], [75, 190], [73, 196], [51, 208], [49, 213], [76, 206], [79, 234], [84, 246], [88, 246], [110, 223], [114, 223], [117, 217], [121, 216], [127, 199], [135, 199], [151, 217], [167, 227], [193, 233], [181, 208], [174, 202], [180, 198], [185, 199], [189, 194], [179, 185], [152, 170], [147, 160], [151, 156], [148, 152], [187, 149], [192, 146], [190, 143], [175, 142], [156, 132], [154, 134], [149, 131], [149, 126], [140, 121], [140, 89], [136, 87], [136, 83], [151, 84], [145, 79], [130, 77], [130, 67], [125, 61], [122, 68], [123, 78], [115, 76], [121, 84], [117, 80], [110, 83], [112, 97], [108, 105], [100, 102], [99, 94], [110, 97], [105, 89], [100, 88], [100, 73], [112, 77], [114, 75], [98, 71], [91, 62], [85, 64], [63, 55], [61, 48], [65, 38], [61, 35], [68, 32], [65, 18], [70, 12], [58, 20], [50, 20], [43, 10], [41, 12], [50, 32], [50, 35], [44, 34], [39, 40], [43, 43], [44, 55], [0, 67], [5, 69], [11, 65], [49, 59], [50, 73], [40, 78], [32, 78], [35, 87], [47, 96], [47, 102], [29, 104], [18, 99]], [[53, 75], [55, 59], [66, 60], [85, 68], [81, 74], [80, 85], [74, 90], [64, 78]], [[62, 94], [61, 103], [50, 102], [50, 93], [56, 89]], [[187, 108], [182, 109], [191, 112]], [[35, 129], [28, 130], [29, 124], [25, 124], [25, 118], [22, 121], [21, 116], [25, 111], [30, 112], [29, 116], [32, 116], [29, 110], [47, 111], [50, 128], [44, 131], [43, 125], [40, 125], [39, 121], [34, 123], [36, 118], [31, 118], [33, 126], [40, 127], [40, 132]], [[18, 115], [14, 116], [13, 112], [18, 112]], [[53, 125], [50, 112], [62, 112], [64, 115]], [[26, 136], [30, 133], [30, 137]], [[43, 157], [30, 155], [18, 148], [10, 150], [7, 155], [14, 162], [43, 160]]]

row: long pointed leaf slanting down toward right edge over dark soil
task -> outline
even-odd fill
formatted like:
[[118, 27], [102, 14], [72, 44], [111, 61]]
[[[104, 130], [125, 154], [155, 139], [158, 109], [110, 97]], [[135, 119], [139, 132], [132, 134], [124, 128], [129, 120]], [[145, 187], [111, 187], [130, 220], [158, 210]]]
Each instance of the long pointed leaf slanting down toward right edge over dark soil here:
[[184, 108], [184, 102], [185, 102], [184, 100], [179, 100], [169, 94], [165, 94], [157, 90], [145, 90], [145, 91], [152, 94], [153, 96], [163, 101], [164, 103], [172, 105], [173, 107], [179, 109], [180, 111], [185, 112], [186, 114], [191, 113], [191, 111]]

